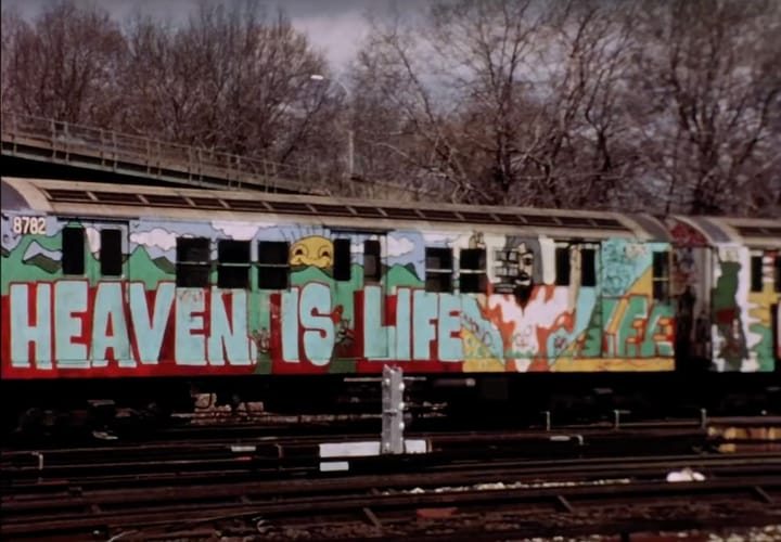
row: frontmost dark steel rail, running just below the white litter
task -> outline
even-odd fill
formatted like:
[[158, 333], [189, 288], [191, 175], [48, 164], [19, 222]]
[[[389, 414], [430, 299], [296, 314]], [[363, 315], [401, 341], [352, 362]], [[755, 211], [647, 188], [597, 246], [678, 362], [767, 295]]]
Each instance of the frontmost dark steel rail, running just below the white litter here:
[[[379, 486], [383, 487], [383, 486]], [[490, 504], [548, 505], [561, 508], [563, 503], [574, 501], [602, 501], [610, 503], [631, 502], [631, 500], [690, 500], [707, 498], [734, 500], [751, 496], [767, 502], [769, 491], [781, 488], [781, 475], [755, 476], [740, 480], [717, 479], [706, 482], [667, 483], [644, 481], [629, 485], [605, 486], [563, 486], [554, 488], [521, 488], [507, 490], [466, 490], [424, 493], [381, 493], [381, 494], [335, 494], [334, 491], [322, 496], [280, 499], [279, 495], [267, 501], [255, 501], [244, 494], [242, 501], [212, 503], [205, 500], [199, 503], [164, 505], [159, 502], [146, 508], [104, 512], [93, 505], [82, 515], [42, 515], [27, 518], [5, 517], [0, 528], [3, 535], [22, 533], [47, 533], [73, 531], [77, 529], [99, 529], [107, 527], [150, 527], [176, 522], [213, 521], [215, 518], [240, 516], [300, 515], [303, 509], [309, 514], [340, 514], [371, 508], [377, 511], [398, 511], [400, 508], [420, 508], [426, 506], [479, 506]], [[566, 504], [564, 504], [566, 507]]]

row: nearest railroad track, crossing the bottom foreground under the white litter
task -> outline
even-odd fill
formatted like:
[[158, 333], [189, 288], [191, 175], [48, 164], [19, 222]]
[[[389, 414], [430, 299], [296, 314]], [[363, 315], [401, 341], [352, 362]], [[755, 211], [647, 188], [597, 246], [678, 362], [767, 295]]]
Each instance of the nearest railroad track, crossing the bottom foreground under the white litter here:
[[[701, 473], [705, 481], [666, 481], [670, 470], [683, 467]], [[177, 485], [162, 478], [146, 480], [144, 487], [116, 483], [110, 489], [7, 493], [0, 532], [3, 540], [90, 532], [108, 537], [236, 519], [256, 525], [259, 518], [269, 530], [265, 535], [271, 531], [290, 535], [294, 529], [325, 537], [320, 532], [322, 526], [328, 531], [356, 521], [369, 529], [367, 532], [380, 529], [385, 535], [400, 535], [399, 529], [408, 525], [414, 527], [412, 534], [423, 535], [431, 530], [430, 521], [412, 521], [421, 514], [423, 519], [430, 514], [431, 518], [452, 520], [459, 516], [465, 520], [490, 513], [507, 516], [502, 521], [512, 524], [510, 516], [529, 512], [576, 517], [581, 511], [604, 514], [616, 506], [632, 508], [632, 503], [669, 508], [674, 502], [691, 504], [693, 499], [700, 504], [731, 503], [733, 507], [742, 503], [738, 508], [751, 505], [751, 522], [756, 525], [757, 520], [781, 520], [780, 492], [780, 454], [440, 465], [415, 473], [283, 481], [191, 480]], [[679, 515], [673, 516], [681, 520]], [[515, 521], [523, 524], [518, 518]], [[535, 530], [528, 525], [518, 529], [512, 534]], [[345, 532], [336, 531], [341, 538], [334, 540], [345, 540]]]

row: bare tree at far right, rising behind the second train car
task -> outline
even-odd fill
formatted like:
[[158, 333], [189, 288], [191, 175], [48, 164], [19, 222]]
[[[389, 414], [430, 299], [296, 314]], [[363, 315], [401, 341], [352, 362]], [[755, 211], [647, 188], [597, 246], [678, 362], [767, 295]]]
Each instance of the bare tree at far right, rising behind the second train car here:
[[778, 2], [642, 4], [636, 134], [644, 176], [662, 181], [648, 201], [697, 214], [772, 206], [781, 197]]

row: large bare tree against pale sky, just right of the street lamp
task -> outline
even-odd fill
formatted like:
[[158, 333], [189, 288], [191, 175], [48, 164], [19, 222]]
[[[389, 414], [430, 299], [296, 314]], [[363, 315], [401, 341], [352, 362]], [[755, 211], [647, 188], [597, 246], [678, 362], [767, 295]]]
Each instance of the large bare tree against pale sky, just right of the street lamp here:
[[454, 198], [610, 205], [626, 173], [614, 113], [629, 20], [596, 1], [435, 4], [423, 28], [372, 33], [358, 93], [383, 91], [410, 132], [398, 156]]

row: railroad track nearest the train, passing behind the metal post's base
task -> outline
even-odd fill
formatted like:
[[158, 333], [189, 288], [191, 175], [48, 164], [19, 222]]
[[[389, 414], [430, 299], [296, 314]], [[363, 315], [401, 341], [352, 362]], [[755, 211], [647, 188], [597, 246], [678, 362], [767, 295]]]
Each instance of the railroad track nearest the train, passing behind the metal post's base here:
[[[490, 450], [492, 456], [549, 457], [598, 456], [641, 453], [683, 453], [716, 449], [725, 442], [756, 443], [746, 436], [757, 427], [781, 428], [779, 418], [722, 418], [704, 426], [693, 422], [643, 422], [564, 426], [555, 429], [411, 433], [408, 438], [427, 443], [430, 451], [451, 459], [469, 460]], [[740, 431], [725, 427], [742, 428]], [[335, 433], [342, 429], [342, 433]], [[362, 427], [359, 427], [362, 429]], [[300, 429], [299, 429], [300, 431]], [[756, 431], [755, 431], [756, 433]], [[766, 431], [768, 433], [768, 431]], [[738, 438], [734, 438], [734, 435]], [[343, 426], [327, 427], [307, 435], [266, 426], [182, 427], [159, 435], [162, 440], [113, 442], [94, 440], [90, 446], [69, 448], [5, 448], [0, 468], [9, 477], [88, 476], [90, 472], [155, 472], [171, 468], [230, 468], [249, 457], [253, 467], [273, 468], [319, 459], [323, 442], [376, 440], [377, 433], [344, 433]], [[764, 441], [768, 442], [768, 441]]]

